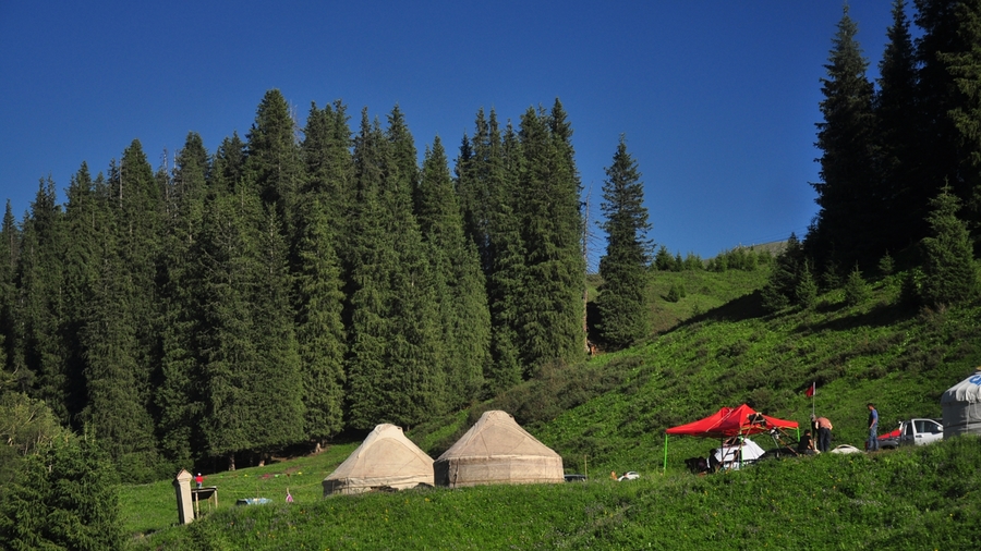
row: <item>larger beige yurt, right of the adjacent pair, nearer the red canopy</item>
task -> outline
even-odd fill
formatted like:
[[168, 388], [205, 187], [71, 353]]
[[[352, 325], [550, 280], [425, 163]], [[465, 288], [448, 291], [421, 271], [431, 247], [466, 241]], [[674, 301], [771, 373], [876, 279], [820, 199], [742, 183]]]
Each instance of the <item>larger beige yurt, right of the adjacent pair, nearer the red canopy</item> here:
[[506, 412], [485, 412], [433, 464], [436, 485], [561, 482], [562, 458]]

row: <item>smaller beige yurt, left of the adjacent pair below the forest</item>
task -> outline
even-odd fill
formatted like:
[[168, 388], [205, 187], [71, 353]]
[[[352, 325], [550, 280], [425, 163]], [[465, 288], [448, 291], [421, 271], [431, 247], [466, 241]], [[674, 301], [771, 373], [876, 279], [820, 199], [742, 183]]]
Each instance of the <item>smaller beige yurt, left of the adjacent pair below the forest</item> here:
[[375, 427], [334, 473], [324, 479], [324, 495], [433, 486], [433, 458], [402, 433], [401, 427]]

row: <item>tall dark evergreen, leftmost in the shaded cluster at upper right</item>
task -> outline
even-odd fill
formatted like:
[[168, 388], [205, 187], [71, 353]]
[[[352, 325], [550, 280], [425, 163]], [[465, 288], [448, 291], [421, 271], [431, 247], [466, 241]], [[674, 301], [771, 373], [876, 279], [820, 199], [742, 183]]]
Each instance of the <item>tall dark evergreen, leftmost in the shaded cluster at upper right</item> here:
[[823, 182], [812, 184], [821, 208], [806, 240], [819, 269], [831, 261], [869, 261], [886, 247], [885, 203], [875, 170], [873, 87], [857, 34], [846, 5], [825, 65], [827, 78], [822, 78], [824, 122], [818, 123], [816, 145], [823, 151]]

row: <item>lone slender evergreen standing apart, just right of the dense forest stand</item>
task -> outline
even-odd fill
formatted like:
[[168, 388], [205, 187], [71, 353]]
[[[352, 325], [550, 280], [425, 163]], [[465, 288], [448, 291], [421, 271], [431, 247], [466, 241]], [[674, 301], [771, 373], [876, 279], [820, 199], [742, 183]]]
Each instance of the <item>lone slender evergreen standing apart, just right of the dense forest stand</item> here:
[[621, 135], [613, 163], [606, 169], [603, 204], [606, 220], [606, 255], [600, 259], [603, 285], [596, 297], [600, 309], [597, 329], [603, 340], [614, 347], [629, 346], [647, 336], [651, 323], [646, 309], [647, 267], [651, 229], [644, 207], [644, 188], [637, 161], [627, 151]]

